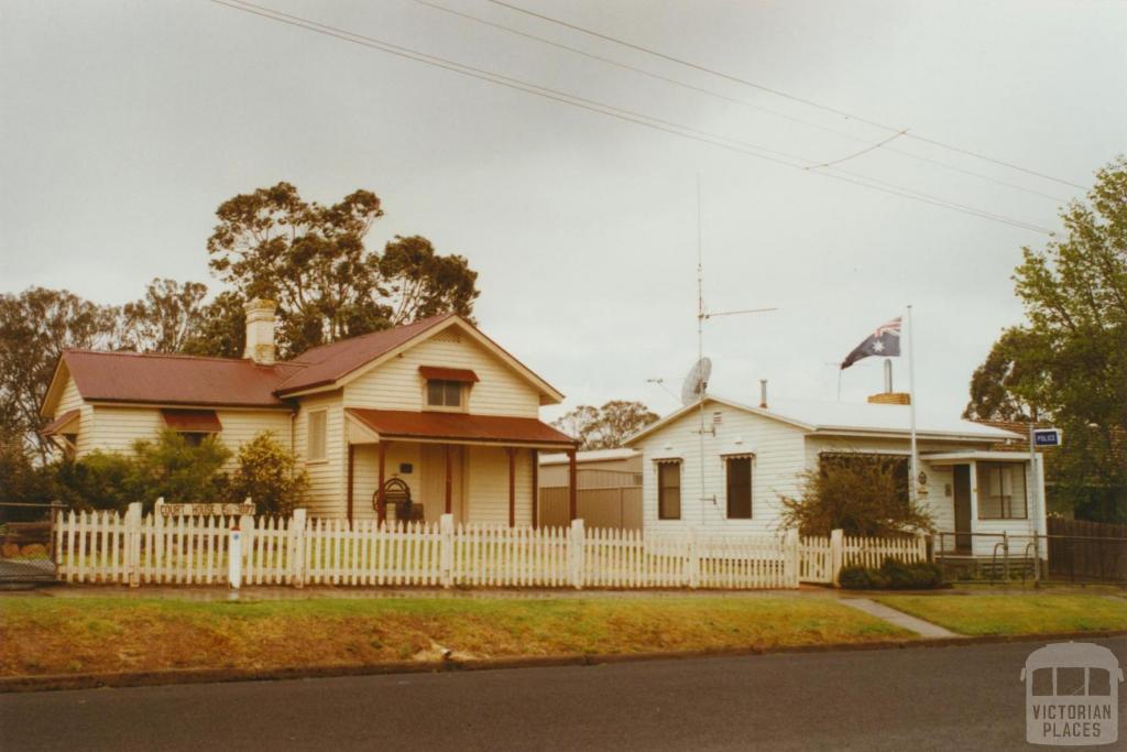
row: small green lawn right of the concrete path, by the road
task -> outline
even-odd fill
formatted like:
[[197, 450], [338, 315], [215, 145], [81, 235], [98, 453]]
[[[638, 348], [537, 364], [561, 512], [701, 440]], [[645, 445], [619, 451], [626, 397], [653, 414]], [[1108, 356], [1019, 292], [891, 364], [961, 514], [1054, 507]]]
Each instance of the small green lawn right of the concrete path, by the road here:
[[1127, 599], [1110, 595], [881, 595], [876, 600], [962, 635], [1127, 629]]

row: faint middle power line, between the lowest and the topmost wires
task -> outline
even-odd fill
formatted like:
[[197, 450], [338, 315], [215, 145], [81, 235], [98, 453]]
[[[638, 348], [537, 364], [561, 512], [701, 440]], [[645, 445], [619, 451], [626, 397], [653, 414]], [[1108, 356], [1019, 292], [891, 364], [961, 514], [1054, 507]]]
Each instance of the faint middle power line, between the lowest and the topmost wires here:
[[[488, 27], [491, 27], [491, 28], [505, 32], [507, 34], [513, 34], [513, 35], [516, 35], [516, 36], [520, 36], [520, 37], [524, 37], [526, 39], [532, 39], [534, 42], [539, 42], [541, 44], [545, 44], [548, 46], [556, 47], [557, 50], [564, 50], [566, 52], [569, 52], [569, 53], [573, 53], [573, 54], [576, 54], [576, 55], [580, 55], [580, 56], [587, 57], [589, 60], [595, 60], [595, 61], [598, 61], [601, 63], [605, 63], [607, 65], [613, 65], [613, 67], [620, 68], [622, 70], [631, 71], [633, 73], [638, 73], [640, 76], [645, 76], [647, 78], [650, 78], [650, 79], [654, 79], [654, 80], [657, 80], [657, 81], [663, 81], [665, 83], [671, 83], [673, 86], [676, 86], [676, 87], [680, 87], [680, 88], [683, 88], [683, 89], [686, 89], [686, 90], [690, 90], [690, 91], [695, 91], [698, 94], [703, 94], [703, 95], [709, 96], [709, 97], [715, 97], [715, 98], [720, 99], [722, 101], [728, 101], [728, 103], [731, 103], [731, 104], [736, 104], [736, 105], [739, 105], [742, 107], [746, 107], [747, 109], [751, 109], [753, 112], [763, 113], [763, 114], [770, 115], [772, 117], [778, 117], [778, 118], [781, 118], [781, 120], [784, 120], [784, 121], [789, 121], [791, 123], [798, 123], [800, 125], [805, 125], [806, 127], [815, 129], [817, 131], [823, 131], [825, 133], [832, 133], [832, 134], [837, 135], [837, 136], [843, 138], [843, 139], [849, 139], [851, 141], [857, 141], [857, 142], [863, 143], [867, 147], [875, 145], [868, 139], [862, 139], [862, 138], [860, 138], [858, 135], [854, 135], [854, 134], [850, 133], [849, 131], [843, 131], [843, 130], [837, 129], [837, 127], [832, 127], [832, 126], [823, 125], [820, 123], [815, 123], [813, 121], [804, 120], [801, 117], [796, 117], [793, 115], [789, 115], [787, 113], [779, 112], [778, 109], [772, 109], [770, 107], [763, 107], [762, 105], [753, 104], [753, 103], [751, 103], [751, 101], [748, 101], [746, 99], [740, 99], [738, 97], [731, 97], [731, 96], [728, 96], [728, 95], [722, 94], [720, 91], [716, 91], [713, 89], [707, 89], [707, 88], [701, 87], [701, 86], [695, 86], [693, 83], [689, 83], [687, 81], [681, 81], [681, 80], [677, 80], [677, 79], [674, 79], [674, 78], [669, 78], [667, 76], [662, 76], [660, 73], [655, 73], [653, 71], [646, 70], [645, 68], [639, 68], [637, 65], [631, 65], [629, 63], [624, 63], [622, 61], [614, 60], [614, 59], [611, 59], [611, 57], [604, 57], [603, 55], [597, 55], [595, 53], [587, 52], [586, 50], [580, 50], [579, 47], [573, 47], [570, 45], [562, 44], [560, 42], [556, 42], [554, 39], [549, 39], [547, 37], [538, 36], [535, 34], [530, 34], [527, 32], [523, 32], [521, 29], [513, 28], [512, 26], [505, 26], [504, 24], [498, 24], [496, 21], [491, 21], [491, 20], [488, 20], [488, 19], [485, 19], [485, 18], [480, 18], [478, 16], [473, 16], [472, 14], [467, 14], [467, 12], [461, 11], [461, 10], [455, 10], [453, 8], [447, 8], [447, 7], [438, 5], [436, 2], [429, 2], [428, 0], [414, 0], [414, 1], [417, 2], [417, 3], [419, 3], [420, 6], [426, 6], [427, 8], [431, 8], [433, 10], [437, 10], [437, 11], [441, 11], [441, 12], [444, 12], [444, 14], [449, 14], [451, 16], [456, 16], [456, 17], [465, 19], [468, 21], [472, 21], [474, 24], [480, 24], [482, 26], [488, 26]], [[898, 135], [900, 135], [900, 133], [896, 133], [891, 138], [896, 138]], [[992, 177], [990, 175], [983, 175], [982, 172], [975, 172], [974, 170], [968, 170], [968, 169], [964, 169], [961, 167], [956, 167], [953, 165], [950, 165], [950, 163], [944, 162], [944, 161], [939, 160], [939, 159], [931, 159], [929, 157], [923, 157], [921, 154], [916, 154], [916, 153], [913, 153], [911, 151], [904, 151], [903, 149], [895, 149], [895, 148], [891, 148], [891, 147], [887, 147], [886, 144], [891, 139], [887, 139], [884, 142], [880, 142], [879, 144], [876, 144], [876, 145], [880, 145], [886, 151], [899, 154], [902, 157], [907, 157], [908, 159], [914, 159], [916, 161], [921, 161], [921, 162], [926, 162], [926, 163], [930, 163], [930, 165], [934, 165], [934, 166], [940, 167], [940, 168], [946, 169], [946, 170], [951, 170], [953, 172], [960, 172], [962, 175], [968, 175], [970, 177], [975, 177], [975, 178], [978, 178], [980, 180], [986, 180], [986, 182], [990, 182], [990, 183], [994, 183], [996, 185], [1005, 186], [1005, 187], [1012, 188], [1014, 191], [1021, 191], [1023, 193], [1028, 193], [1028, 194], [1031, 194], [1031, 195], [1035, 195], [1035, 196], [1039, 196], [1041, 198], [1047, 198], [1049, 201], [1054, 201], [1054, 202], [1062, 203], [1062, 204], [1068, 201], [1067, 198], [1062, 197], [1062, 196], [1050, 195], [1050, 194], [1047, 194], [1047, 193], [1042, 193], [1040, 191], [1035, 191], [1032, 188], [1028, 188], [1028, 187], [1026, 187], [1023, 185], [1018, 185], [1015, 183], [1010, 183], [1008, 180], [1001, 180], [1001, 179]], [[871, 151], [871, 149], [866, 149], [864, 151]], [[861, 152], [861, 153], [863, 153], [863, 152]], [[854, 154], [854, 156], [859, 156], [859, 154]]]

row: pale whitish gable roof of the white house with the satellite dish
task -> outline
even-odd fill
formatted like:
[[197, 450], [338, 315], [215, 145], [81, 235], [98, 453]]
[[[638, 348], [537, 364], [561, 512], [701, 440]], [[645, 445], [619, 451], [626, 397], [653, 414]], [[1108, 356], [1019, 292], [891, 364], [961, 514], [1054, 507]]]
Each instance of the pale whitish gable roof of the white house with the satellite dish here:
[[[911, 434], [911, 408], [907, 405], [873, 405], [871, 402], [824, 402], [816, 400], [775, 400], [770, 407], [752, 407], [735, 400], [708, 395], [706, 402], [726, 405], [745, 413], [793, 425], [808, 433], [835, 434]], [[642, 436], [668, 425], [686, 413], [699, 409], [700, 402], [686, 405], [642, 428], [629, 440], [633, 444]], [[1013, 441], [1019, 434], [962, 418], [949, 418], [935, 412], [916, 410], [916, 435], [924, 439], [967, 439], [973, 441]]]

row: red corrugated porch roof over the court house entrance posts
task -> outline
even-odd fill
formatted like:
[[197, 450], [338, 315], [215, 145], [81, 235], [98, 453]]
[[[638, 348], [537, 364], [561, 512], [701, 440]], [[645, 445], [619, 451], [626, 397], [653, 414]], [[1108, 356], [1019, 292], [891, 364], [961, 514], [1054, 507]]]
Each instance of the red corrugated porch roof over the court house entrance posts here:
[[570, 449], [574, 439], [536, 418], [467, 413], [415, 413], [350, 407], [346, 410], [387, 439], [446, 439], [504, 444], [554, 444]]

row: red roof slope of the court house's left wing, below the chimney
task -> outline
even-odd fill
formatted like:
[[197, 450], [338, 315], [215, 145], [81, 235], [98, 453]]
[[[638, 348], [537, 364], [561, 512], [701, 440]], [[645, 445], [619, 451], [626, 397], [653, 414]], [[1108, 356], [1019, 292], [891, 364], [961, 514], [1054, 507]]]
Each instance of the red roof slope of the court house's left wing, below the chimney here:
[[278, 382], [294, 368], [250, 360], [69, 350], [63, 362], [83, 399], [163, 405], [281, 407]]

